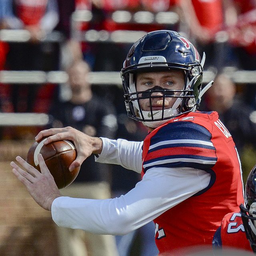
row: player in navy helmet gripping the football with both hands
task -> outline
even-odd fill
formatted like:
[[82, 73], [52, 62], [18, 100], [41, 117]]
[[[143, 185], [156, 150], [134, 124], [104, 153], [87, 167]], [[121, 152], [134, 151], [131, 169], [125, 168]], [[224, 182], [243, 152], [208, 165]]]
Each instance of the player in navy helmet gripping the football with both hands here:
[[90, 137], [71, 127], [36, 136], [48, 137], [45, 144], [72, 140], [78, 156], [70, 170], [95, 154], [98, 162], [141, 172], [127, 194], [107, 200], [61, 196], [40, 155], [42, 173], [18, 156], [22, 168], [11, 162], [14, 174], [59, 226], [122, 235], [154, 220], [160, 253], [211, 245], [223, 216], [238, 211], [244, 198], [230, 133], [216, 112], [197, 110], [213, 83], [202, 88], [204, 60], [170, 30], [149, 32], [132, 46], [121, 76], [128, 116], [148, 127], [143, 142]]

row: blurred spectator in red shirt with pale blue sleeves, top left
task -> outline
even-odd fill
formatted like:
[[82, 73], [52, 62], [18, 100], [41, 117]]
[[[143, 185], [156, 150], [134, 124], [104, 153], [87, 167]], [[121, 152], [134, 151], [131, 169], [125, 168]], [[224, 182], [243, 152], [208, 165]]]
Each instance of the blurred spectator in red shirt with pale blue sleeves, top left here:
[[[5, 69], [56, 70], [58, 69], [58, 43], [42, 42], [58, 23], [56, 0], [13, 0], [4, 9], [4, 23], [9, 29], [30, 32], [28, 42], [9, 43]], [[12, 104], [14, 112], [33, 112], [38, 85], [14, 84]]]

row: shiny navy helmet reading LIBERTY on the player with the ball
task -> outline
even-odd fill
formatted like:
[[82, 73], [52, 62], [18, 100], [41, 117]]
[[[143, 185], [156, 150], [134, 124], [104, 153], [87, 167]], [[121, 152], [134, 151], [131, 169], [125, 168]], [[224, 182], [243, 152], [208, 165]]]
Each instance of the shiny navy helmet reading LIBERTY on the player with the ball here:
[[[125, 105], [128, 116], [146, 122], [148, 126], [157, 127], [158, 121], [167, 120], [186, 112], [194, 111], [200, 104], [202, 89], [203, 60], [198, 51], [186, 38], [175, 31], [158, 30], [147, 33], [130, 49], [124, 67], [121, 70]], [[183, 90], [166, 90], [155, 86], [147, 93], [136, 90], [138, 72], [156, 72], [182, 70], [184, 72]], [[213, 81], [212, 81], [213, 82]], [[209, 83], [210, 84], [210, 83]], [[142, 110], [140, 99], [152, 98], [153, 92], [162, 94], [162, 110]], [[164, 109], [164, 99], [176, 98], [172, 108]], [[152, 104], [150, 103], [150, 106]], [[152, 126], [150, 122], [158, 125]]]

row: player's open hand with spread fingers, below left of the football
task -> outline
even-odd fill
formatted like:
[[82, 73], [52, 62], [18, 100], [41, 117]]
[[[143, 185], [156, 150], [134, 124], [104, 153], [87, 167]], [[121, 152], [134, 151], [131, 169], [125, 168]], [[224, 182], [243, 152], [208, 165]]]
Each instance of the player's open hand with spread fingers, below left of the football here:
[[36, 168], [28, 164], [20, 156], [17, 156], [16, 160], [22, 168], [15, 162], [11, 162], [12, 172], [24, 184], [32, 198], [42, 208], [50, 211], [53, 200], [61, 196], [61, 194], [44, 162], [44, 158], [41, 154], [38, 155], [41, 172], [38, 172]]

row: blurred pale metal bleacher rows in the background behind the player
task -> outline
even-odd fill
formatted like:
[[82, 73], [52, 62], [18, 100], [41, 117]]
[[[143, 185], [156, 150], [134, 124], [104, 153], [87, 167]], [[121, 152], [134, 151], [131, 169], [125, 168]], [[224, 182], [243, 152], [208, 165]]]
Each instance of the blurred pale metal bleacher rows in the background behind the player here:
[[[173, 25], [179, 21], [178, 14], [175, 12], [159, 12], [157, 14], [151, 12], [116, 11], [112, 13], [112, 20], [118, 23], [136, 23], [140, 24], [166, 24]], [[77, 22], [89, 22], [92, 19], [92, 12], [76, 11], [71, 17], [71, 36], [80, 42], [111, 42], [116, 43], [133, 43], [141, 38], [145, 31], [116, 30], [109, 32], [106, 30], [76, 30]], [[3, 42], [20, 42], [26, 43], [30, 40], [30, 33], [27, 30], [0, 30], [0, 41]], [[228, 40], [225, 32], [219, 32], [216, 35], [216, 43], [226, 42]], [[64, 41], [64, 37], [58, 31], [53, 31], [42, 39], [43, 42], [59, 42]], [[228, 69], [227, 69], [228, 70]], [[229, 70], [235, 83], [254, 84], [256, 81], [255, 71], [245, 70]], [[204, 72], [203, 82], [214, 79], [214, 72], [206, 70]], [[1, 84], [62, 84], [67, 82], [68, 75], [64, 71], [0, 71]], [[95, 85], [115, 85], [122, 86], [119, 72], [91, 72], [89, 74], [91, 84]], [[47, 114], [42, 113], [0, 113], [0, 126], [45, 126], [48, 124], [49, 118]]]

